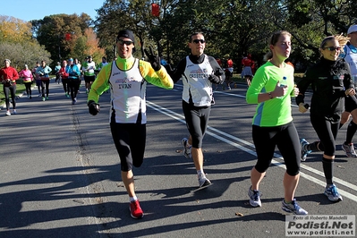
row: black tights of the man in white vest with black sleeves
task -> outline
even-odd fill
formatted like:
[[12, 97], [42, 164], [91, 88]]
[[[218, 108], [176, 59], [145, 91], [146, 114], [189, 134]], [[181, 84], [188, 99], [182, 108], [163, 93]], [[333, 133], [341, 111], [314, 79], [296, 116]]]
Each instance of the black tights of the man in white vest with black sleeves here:
[[208, 126], [210, 106], [198, 107], [183, 101], [183, 115], [186, 126], [192, 137], [192, 147], [200, 149], [202, 147], [203, 136]]

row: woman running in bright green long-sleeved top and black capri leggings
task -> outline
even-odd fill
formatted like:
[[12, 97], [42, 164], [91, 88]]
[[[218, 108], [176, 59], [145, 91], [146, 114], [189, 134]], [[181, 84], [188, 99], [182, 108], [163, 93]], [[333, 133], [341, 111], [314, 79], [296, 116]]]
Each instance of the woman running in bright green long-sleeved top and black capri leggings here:
[[[284, 62], [292, 50], [291, 34], [285, 30], [274, 32], [268, 47], [269, 52], [265, 55], [267, 63], [257, 70], [246, 95], [249, 104], [258, 103], [252, 122], [258, 161], [251, 169], [248, 196], [252, 207], [261, 207], [259, 184], [266, 175], [277, 146], [286, 167], [282, 209], [295, 215], [307, 215], [308, 212], [294, 198], [300, 178], [301, 150], [291, 106], [291, 97], [297, 96], [298, 89], [293, 86], [293, 67]], [[284, 86], [283, 79], [286, 79]]]

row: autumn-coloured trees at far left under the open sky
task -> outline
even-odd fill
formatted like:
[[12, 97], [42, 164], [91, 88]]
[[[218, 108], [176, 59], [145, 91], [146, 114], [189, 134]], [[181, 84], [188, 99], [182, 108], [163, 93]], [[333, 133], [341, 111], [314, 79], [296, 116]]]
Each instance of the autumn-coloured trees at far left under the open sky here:
[[42, 20], [21, 21], [0, 15], [0, 55], [9, 58], [18, 70], [41, 60], [55, 66], [69, 57], [100, 61], [105, 50], [98, 47], [97, 33], [88, 14], [55, 14]]

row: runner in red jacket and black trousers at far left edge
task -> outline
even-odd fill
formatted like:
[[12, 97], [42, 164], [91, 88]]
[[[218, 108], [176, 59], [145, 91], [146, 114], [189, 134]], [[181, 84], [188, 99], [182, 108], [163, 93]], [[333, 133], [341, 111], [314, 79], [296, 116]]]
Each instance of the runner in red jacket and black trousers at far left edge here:
[[11, 93], [11, 98], [13, 100], [13, 114], [16, 114], [16, 80], [19, 79], [19, 73], [10, 66], [11, 61], [9, 59], [4, 60], [4, 68], [0, 70], [0, 80], [3, 83], [5, 104], [6, 104], [6, 115], [11, 115], [10, 113], [10, 99], [9, 93]]

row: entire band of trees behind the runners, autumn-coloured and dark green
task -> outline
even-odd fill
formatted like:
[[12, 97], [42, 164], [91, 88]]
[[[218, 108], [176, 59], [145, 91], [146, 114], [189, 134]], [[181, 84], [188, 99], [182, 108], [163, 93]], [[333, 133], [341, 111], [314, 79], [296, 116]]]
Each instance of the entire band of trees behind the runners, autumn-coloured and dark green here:
[[[151, 4], [159, 5], [158, 15], [151, 12]], [[207, 40], [205, 53], [230, 55], [239, 71], [247, 54], [262, 64], [271, 33], [288, 30], [293, 35], [290, 60], [295, 69], [304, 70], [318, 59], [323, 38], [345, 35], [357, 22], [356, 5], [357, 0], [106, 0], [94, 20], [86, 13], [30, 22], [0, 16], [0, 54], [10, 54], [6, 57], [16, 58], [13, 62], [19, 65], [87, 55], [96, 62], [103, 55], [113, 60], [117, 32], [129, 29], [136, 35], [135, 56], [145, 57], [143, 48], [152, 46], [177, 64], [189, 53], [191, 33], [200, 31]]]

